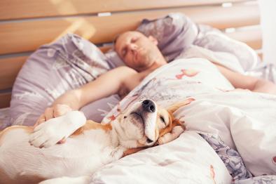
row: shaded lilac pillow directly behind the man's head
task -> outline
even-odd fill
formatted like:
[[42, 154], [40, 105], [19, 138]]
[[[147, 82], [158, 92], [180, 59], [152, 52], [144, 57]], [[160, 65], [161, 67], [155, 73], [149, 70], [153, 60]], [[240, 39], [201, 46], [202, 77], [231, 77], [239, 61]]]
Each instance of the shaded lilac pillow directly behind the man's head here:
[[170, 13], [156, 20], [144, 19], [137, 31], [155, 37], [168, 62], [191, 46], [198, 35], [197, 25], [183, 13]]

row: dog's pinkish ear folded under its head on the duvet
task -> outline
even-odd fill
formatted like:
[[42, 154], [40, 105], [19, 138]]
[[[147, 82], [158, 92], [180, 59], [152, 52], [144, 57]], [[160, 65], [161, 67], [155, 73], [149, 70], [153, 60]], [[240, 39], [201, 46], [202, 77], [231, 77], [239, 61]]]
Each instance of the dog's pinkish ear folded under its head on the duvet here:
[[172, 131], [165, 133], [165, 135], [158, 138], [156, 145], [169, 143], [170, 141], [178, 138], [185, 130], [186, 128], [184, 126], [184, 122], [179, 121], [179, 119], [174, 119], [174, 121], [172, 121]]

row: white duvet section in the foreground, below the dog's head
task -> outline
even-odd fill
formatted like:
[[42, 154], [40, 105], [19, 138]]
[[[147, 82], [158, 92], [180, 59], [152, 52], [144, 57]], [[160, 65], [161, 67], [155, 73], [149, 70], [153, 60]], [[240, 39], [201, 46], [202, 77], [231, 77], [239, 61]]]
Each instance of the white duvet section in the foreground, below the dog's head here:
[[230, 183], [232, 177], [209, 144], [193, 131], [104, 166], [91, 183]]

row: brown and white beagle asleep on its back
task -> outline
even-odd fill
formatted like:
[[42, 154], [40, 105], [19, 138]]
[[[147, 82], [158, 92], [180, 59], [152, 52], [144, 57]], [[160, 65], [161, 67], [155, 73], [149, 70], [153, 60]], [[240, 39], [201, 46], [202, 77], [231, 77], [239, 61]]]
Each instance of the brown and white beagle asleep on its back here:
[[35, 129], [8, 127], [0, 133], [0, 183], [89, 183], [104, 164], [177, 138], [185, 128], [172, 113], [192, 100], [168, 110], [141, 100], [106, 125], [71, 111]]

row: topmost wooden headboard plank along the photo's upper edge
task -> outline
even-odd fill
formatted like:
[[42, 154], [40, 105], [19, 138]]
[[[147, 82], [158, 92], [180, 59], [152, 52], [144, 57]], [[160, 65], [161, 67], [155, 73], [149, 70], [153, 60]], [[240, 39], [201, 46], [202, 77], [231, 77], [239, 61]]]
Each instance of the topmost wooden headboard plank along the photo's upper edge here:
[[244, 0], [1, 0], [0, 20], [199, 6]]

